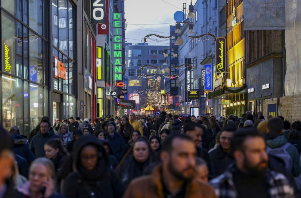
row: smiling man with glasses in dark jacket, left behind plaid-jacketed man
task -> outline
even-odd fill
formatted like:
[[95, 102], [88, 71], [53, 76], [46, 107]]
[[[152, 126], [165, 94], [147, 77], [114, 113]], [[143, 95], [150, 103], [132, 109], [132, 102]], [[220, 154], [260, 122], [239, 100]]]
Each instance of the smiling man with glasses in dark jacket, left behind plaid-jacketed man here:
[[219, 137], [219, 146], [209, 152], [210, 164], [213, 177], [217, 177], [224, 173], [226, 168], [234, 162], [231, 152], [231, 137], [236, 131], [235, 126], [225, 126]]

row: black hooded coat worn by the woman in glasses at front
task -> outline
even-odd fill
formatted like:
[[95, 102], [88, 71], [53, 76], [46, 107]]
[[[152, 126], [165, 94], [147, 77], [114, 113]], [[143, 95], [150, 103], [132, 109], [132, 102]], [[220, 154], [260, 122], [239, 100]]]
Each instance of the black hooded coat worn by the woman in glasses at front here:
[[[81, 165], [80, 152], [86, 145], [94, 145], [99, 150], [98, 163], [93, 170], [86, 170]], [[110, 169], [108, 155], [95, 136], [81, 136], [76, 141], [73, 164], [76, 172], [67, 177], [63, 187], [63, 194], [67, 198], [122, 197], [125, 188], [116, 173]]]

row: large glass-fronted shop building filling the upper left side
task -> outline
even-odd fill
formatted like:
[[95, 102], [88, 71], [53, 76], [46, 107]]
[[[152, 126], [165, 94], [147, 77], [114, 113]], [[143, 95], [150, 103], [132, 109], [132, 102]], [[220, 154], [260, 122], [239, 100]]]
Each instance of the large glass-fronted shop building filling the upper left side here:
[[88, 1], [8, 1], [1, 12], [1, 122], [28, 135], [51, 121], [93, 117], [95, 30]]

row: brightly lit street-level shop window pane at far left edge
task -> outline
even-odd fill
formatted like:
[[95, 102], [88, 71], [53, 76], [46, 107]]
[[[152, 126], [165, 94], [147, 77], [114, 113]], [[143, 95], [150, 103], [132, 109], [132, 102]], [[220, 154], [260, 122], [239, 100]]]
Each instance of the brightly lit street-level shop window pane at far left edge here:
[[2, 74], [3, 127], [10, 130], [17, 125], [23, 131], [23, 80]]

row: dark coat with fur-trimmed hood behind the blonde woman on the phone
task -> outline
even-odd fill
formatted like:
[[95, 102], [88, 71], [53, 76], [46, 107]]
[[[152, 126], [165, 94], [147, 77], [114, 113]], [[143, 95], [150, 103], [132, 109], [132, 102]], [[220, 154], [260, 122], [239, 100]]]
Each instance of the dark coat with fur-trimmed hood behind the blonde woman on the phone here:
[[34, 161], [36, 157], [35, 155], [33, 155], [33, 152], [31, 152], [31, 150], [29, 149], [29, 146], [27, 145], [27, 140], [21, 137], [20, 135], [13, 135], [13, 138], [14, 153], [24, 158], [28, 164], [31, 164], [31, 162]]

